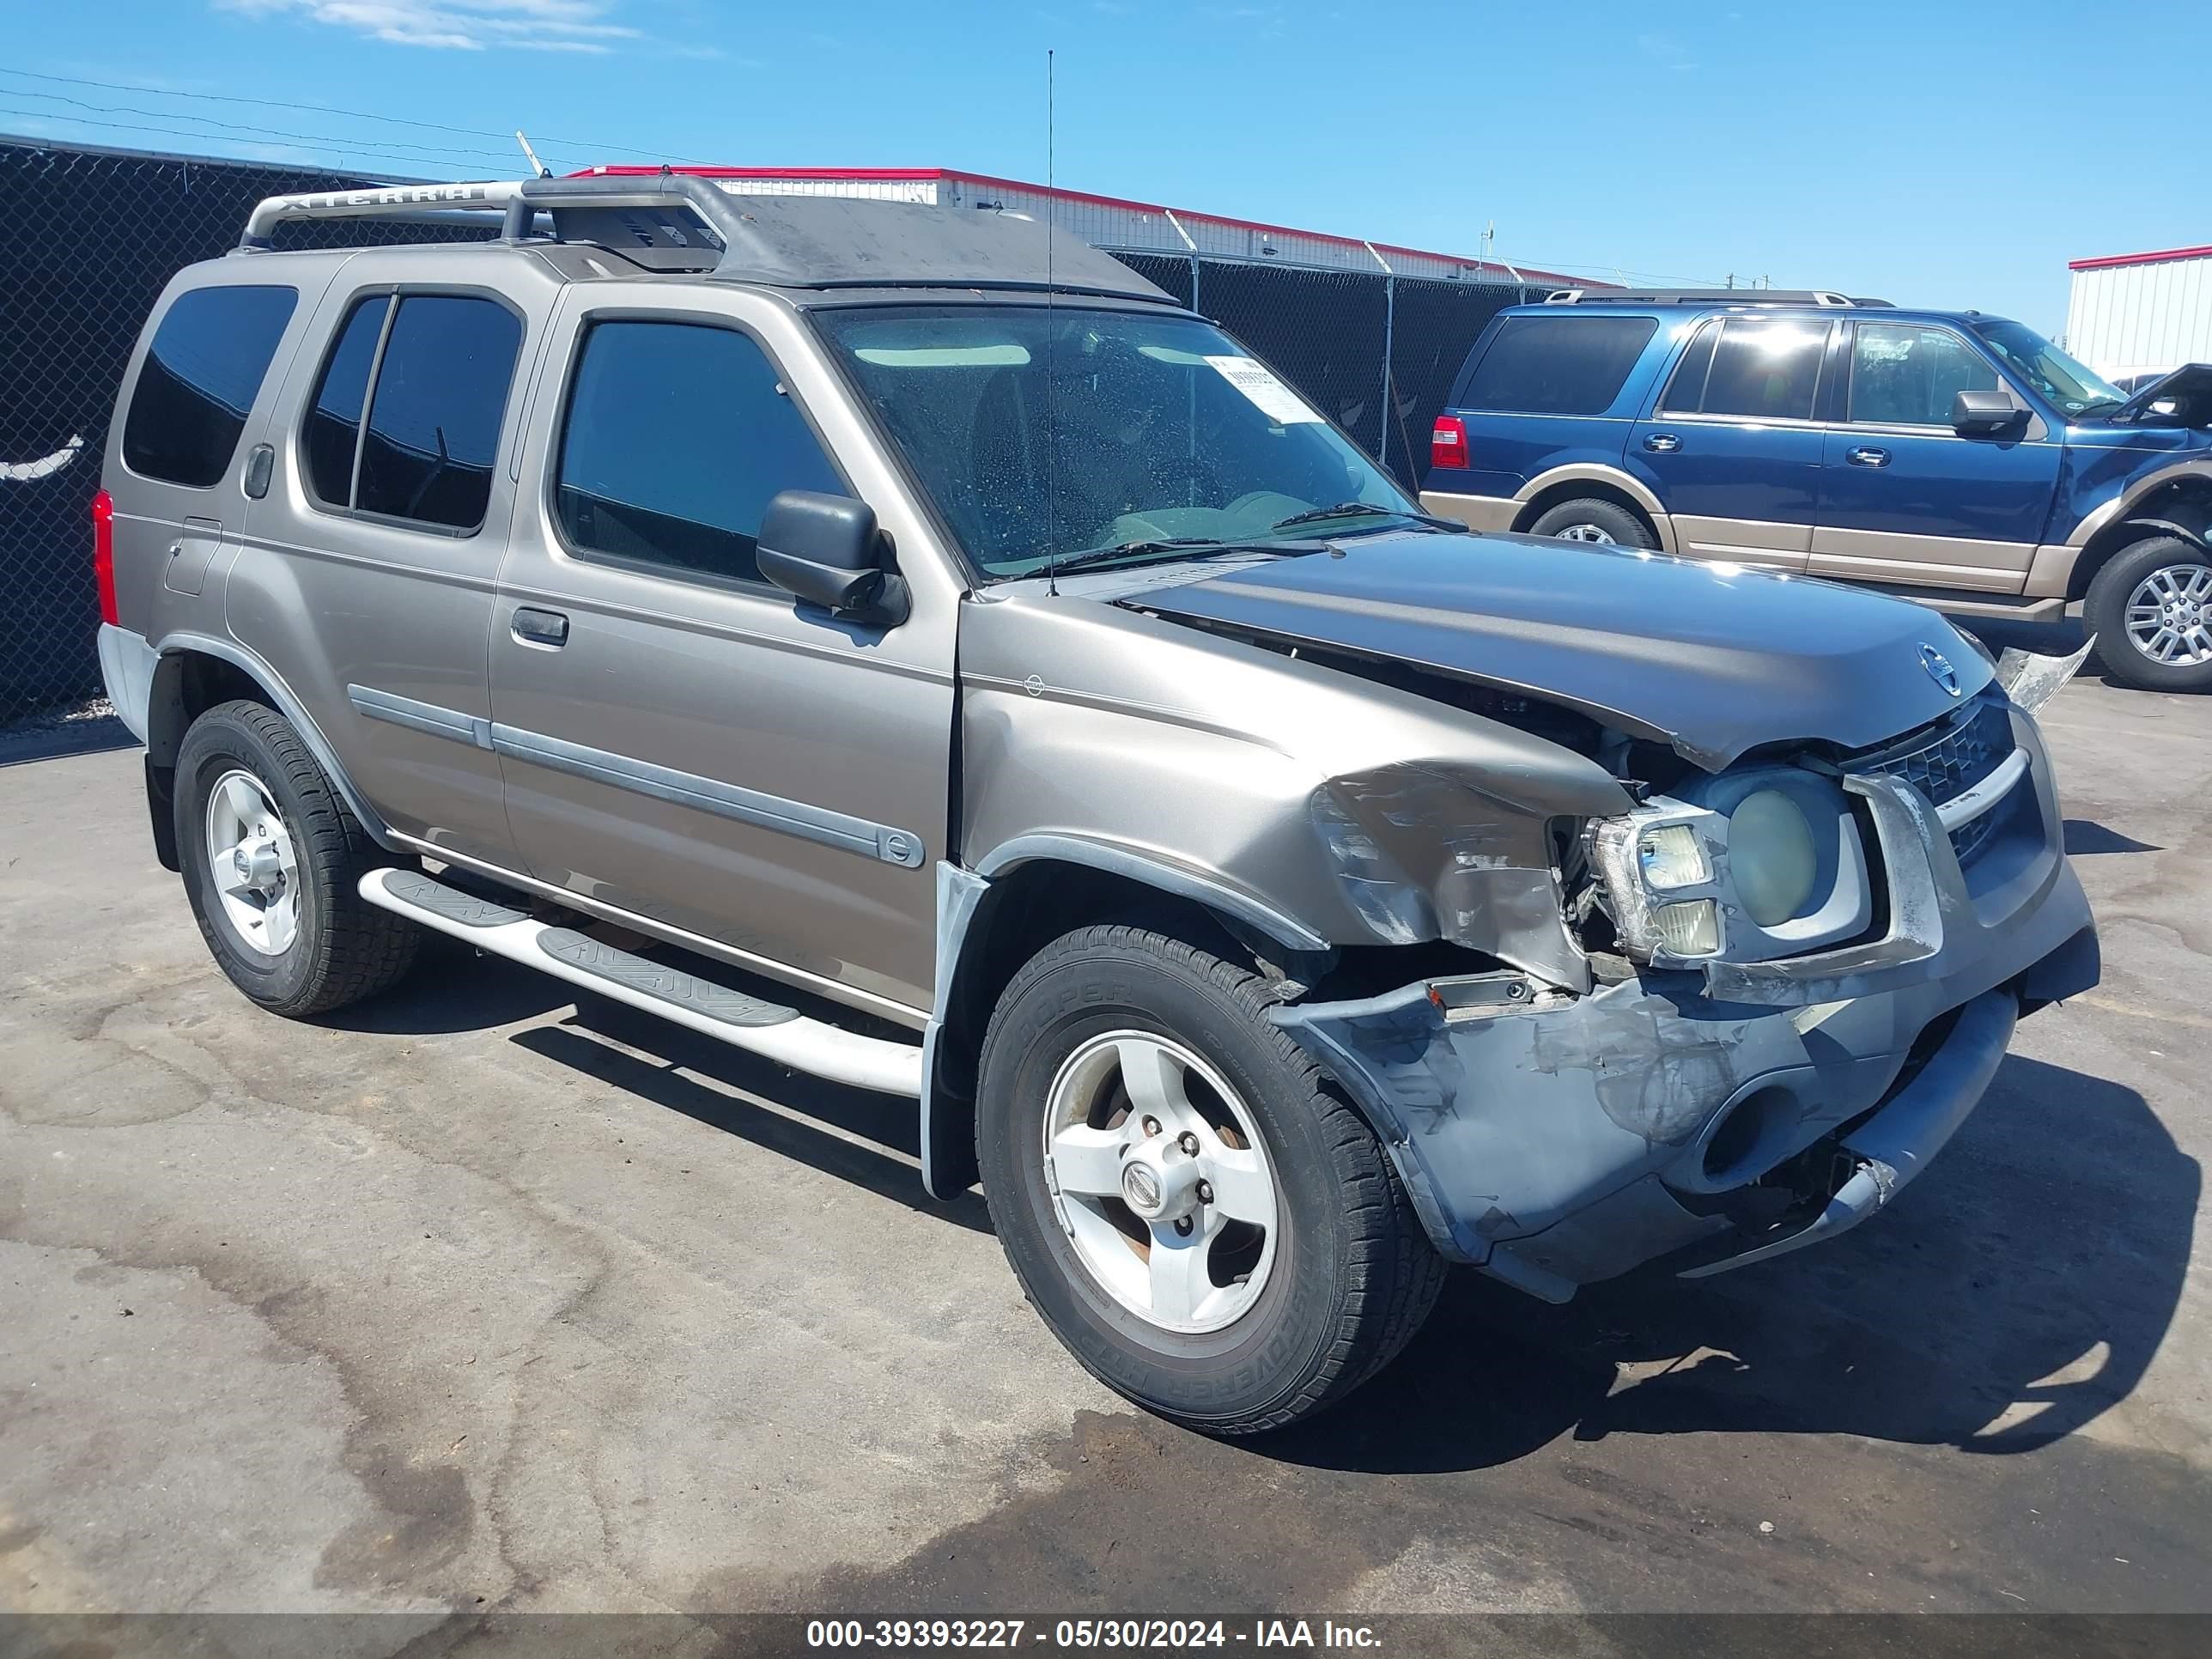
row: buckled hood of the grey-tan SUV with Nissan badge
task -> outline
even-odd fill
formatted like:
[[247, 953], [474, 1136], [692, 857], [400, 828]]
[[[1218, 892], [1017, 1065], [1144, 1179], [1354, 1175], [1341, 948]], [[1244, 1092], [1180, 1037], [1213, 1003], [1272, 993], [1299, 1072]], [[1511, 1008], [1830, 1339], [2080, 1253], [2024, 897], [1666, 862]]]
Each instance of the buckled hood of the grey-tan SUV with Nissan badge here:
[[1880, 743], [1991, 679], [1905, 599], [1524, 535], [1347, 538], [1119, 604], [1531, 692], [1714, 772], [1761, 743]]

